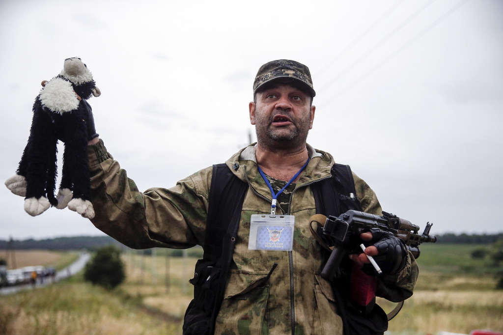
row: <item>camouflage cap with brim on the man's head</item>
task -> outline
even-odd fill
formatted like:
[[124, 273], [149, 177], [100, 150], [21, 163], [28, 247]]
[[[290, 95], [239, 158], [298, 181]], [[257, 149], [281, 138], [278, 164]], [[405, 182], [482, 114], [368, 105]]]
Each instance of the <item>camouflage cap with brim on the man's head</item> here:
[[266, 82], [278, 78], [291, 78], [298, 80], [306, 86], [306, 89], [311, 94], [311, 97], [316, 95], [316, 92], [314, 92], [313, 89], [313, 81], [311, 79], [309, 68], [304, 64], [296, 62], [295, 60], [288, 59], [273, 60], [262, 65], [255, 77], [253, 92], [256, 93], [257, 90]]

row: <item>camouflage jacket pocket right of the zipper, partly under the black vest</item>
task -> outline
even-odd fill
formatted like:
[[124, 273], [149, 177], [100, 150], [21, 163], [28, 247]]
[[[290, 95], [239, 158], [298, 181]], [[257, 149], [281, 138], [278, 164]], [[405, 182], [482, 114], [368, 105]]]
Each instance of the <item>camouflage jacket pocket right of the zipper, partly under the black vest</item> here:
[[313, 333], [342, 333], [343, 323], [337, 314], [336, 300], [329, 282], [314, 273]]

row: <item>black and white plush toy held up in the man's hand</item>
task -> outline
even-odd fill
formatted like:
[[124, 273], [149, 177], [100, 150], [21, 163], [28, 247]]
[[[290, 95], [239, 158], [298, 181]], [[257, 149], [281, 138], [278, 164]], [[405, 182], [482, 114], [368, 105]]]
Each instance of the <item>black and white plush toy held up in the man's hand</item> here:
[[[99, 97], [93, 74], [80, 58], [67, 58], [63, 70], [42, 90], [33, 105], [30, 137], [18, 170], [6, 181], [16, 195], [25, 197], [25, 211], [39, 215], [51, 205], [76, 211], [86, 218], [95, 215], [87, 157], [88, 141], [97, 137], [93, 113], [87, 103]], [[64, 142], [61, 183], [57, 196], [56, 160], [58, 140]]]

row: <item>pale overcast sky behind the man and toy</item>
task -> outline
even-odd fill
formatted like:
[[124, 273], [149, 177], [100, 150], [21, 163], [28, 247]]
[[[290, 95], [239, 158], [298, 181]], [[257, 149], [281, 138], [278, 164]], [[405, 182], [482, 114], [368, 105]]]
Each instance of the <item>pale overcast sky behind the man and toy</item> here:
[[[501, 36], [500, 0], [3, 0], [0, 180], [65, 58], [93, 72], [97, 131], [140, 190], [255, 141], [255, 74], [286, 58], [317, 92], [308, 142], [350, 164], [385, 211], [432, 233], [501, 232]], [[0, 239], [103, 234], [68, 209], [31, 217], [23, 201], [0, 188]]]

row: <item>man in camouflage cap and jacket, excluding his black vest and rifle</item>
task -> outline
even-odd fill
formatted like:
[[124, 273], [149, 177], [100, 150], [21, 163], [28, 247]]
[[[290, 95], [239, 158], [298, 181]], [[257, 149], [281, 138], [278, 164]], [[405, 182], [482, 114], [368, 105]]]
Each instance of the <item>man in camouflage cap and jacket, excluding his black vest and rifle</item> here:
[[[247, 191], [223, 301], [215, 311], [215, 334], [343, 333], [332, 283], [320, 276], [324, 253], [308, 227], [316, 213], [312, 187], [331, 177], [334, 164], [328, 153], [306, 144], [314, 120], [314, 96], [309, 69], [303, 64], [275, 60], [259, 69], [254, 101], [248, 106], [257, 144], [226, 161], [229, 171], [247, 184]], [[90, 141], [89, 159], [96, 227], [133, 248], [204, 247], [212, 242], [205, 241], [212, 167], [171, 189], [141, 193], [98, 137]], [[375, 193], [356, 175], [353, 178], [363, 211], [381, 215]], [[273, 213], [288, 222], [269, 215]], [[263, 223], [260, 217], [273, 221]], [[270, 234], [266, 242], [258, 238], [264, 228]], [[276, 244], [280, 238], [291, 245]], [[362, 239], [381, 240], [370, 232]], [[412, 294], [417, 266], [397, 238], [387, 236], [385, 245], [389, 247], [380, 254], [386, 260], [380, 265], [388, 270], [379, 279], [378, 293], [400, 301]], [[365, 254], [350, 258], [362, 266], [369, 263], [366, 255], [377, 254], [371, 245]]]

